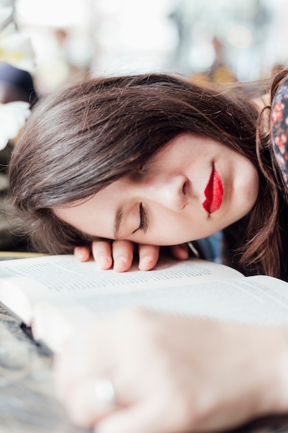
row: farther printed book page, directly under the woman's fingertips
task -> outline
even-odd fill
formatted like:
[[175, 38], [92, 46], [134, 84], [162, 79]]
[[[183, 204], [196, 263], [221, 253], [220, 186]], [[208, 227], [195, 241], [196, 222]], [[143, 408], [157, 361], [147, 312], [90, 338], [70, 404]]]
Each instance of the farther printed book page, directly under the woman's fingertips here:
[[8, 277], [17, 277], [17, 284], [21, 281], [23, 291], [28, 291], [28, 294], [36, 291], [36, 297], [39, 297], [40, 288], [46, 294], [61, 293], [71, 297], [84, 291], [101, 294], [133, 291], [135, 287], [152, 290], [185, 281], [193, 284], [242, 275], [228, 266], [198, 259], [164, 259], [155, 270], [144, 272], [134, 265], [126, 273], [115, 273], [114, 270], [97, 269], [94, 261], [80, 263], [73, 256], [63, 255], [3, 261], [0, 263], [0, 282]]

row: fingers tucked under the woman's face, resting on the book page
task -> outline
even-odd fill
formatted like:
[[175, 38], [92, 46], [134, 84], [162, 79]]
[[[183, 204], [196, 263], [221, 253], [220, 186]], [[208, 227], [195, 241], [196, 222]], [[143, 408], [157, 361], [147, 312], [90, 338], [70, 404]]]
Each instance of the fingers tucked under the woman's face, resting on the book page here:
[[[113, 269], [116, 272], [125, 272], [131, 268], [135, 249], [138, 248], [140, 270], [151, 270], [159, 259], [160, 247], [155, 245], [138, 245], [131, 241], [94, 241], [89, 246], [76, 247], [75, 257], [80, 261], [93, 258], [100, 269]], [[188, 258], [186, 244], [171, 246], [173, 257], [180, 260]]]

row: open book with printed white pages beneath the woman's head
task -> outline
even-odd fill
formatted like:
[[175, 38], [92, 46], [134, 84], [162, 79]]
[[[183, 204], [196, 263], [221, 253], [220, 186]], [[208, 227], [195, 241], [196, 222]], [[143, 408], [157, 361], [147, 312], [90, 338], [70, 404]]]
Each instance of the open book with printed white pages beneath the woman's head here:
[[243, 277], [200, 259], [164, 259], [155, 270], [98, 270], [70, 255], [0, 262], [0, 303], [52, 351], [77, 326], [121, 308], [142, 307], [267, 326], [288, 324], [288, 284]]

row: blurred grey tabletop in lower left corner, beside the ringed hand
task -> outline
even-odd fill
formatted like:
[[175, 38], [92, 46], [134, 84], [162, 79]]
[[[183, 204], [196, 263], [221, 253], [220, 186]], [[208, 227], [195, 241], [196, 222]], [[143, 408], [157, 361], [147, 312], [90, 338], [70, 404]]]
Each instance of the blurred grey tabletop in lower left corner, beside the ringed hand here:
[[55, 396], [52, 357], [0, 307], [0, 433], [87, 433]]

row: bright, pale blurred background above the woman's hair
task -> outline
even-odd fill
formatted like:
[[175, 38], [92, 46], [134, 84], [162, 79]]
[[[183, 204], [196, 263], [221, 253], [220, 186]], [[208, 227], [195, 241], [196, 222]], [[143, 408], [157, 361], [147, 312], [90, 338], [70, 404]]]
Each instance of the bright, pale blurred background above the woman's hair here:
[[246, 81], [288, 63], [287, 0], [0, 0], [32, 39], [39, 93], [86, 73]]

